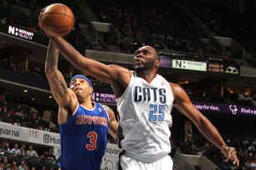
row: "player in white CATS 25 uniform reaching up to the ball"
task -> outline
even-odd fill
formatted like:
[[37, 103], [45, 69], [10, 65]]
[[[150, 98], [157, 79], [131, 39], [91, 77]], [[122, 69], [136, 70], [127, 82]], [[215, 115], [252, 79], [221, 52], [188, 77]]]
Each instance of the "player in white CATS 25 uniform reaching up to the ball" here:
[[130, 71], [86, 58], [62, 37], [50, 38], [74, 67], [113, 87], [124, 135], [120, 142], [125, 150], [120, 156], [122, 169], [172, 169], [168, 153], [171, 151], [169, 127], [172, 126], [173, 104], [227, 159], [239, 164], [235, 148], [226, 145], [218, 130], [193, 106], [184, 89], [156, 73], [160, 57], [155, 48], [139, 48], [134, 57], [135, 71]]

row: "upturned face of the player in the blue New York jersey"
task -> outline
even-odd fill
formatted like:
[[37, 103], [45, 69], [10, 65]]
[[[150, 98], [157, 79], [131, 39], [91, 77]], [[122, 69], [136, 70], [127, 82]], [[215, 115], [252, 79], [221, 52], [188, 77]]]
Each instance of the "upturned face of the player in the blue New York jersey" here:
[[75, 78], [71, 82], [70, 89], [75, 93], [76, 96], [78, 95], [86, 95], [90, 93], [90, 85], [89, 83], [84, 80], [84, 78]]

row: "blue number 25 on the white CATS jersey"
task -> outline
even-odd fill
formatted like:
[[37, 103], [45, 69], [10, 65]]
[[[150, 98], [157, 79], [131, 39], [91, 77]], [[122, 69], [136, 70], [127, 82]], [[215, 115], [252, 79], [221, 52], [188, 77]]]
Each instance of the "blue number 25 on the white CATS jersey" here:
[[151, 104], [149, 120], [150, 121], [164, 121], [165, 120], [165, 110], [166, 110], [166, 105]]

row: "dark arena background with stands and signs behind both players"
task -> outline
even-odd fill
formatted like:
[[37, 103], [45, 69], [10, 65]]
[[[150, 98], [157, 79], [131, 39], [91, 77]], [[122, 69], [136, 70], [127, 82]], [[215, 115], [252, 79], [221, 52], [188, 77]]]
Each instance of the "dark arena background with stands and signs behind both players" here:
[[[132, 69], [136, 47], [156, 47], [161, 54], [159, 73], [184, 87], [193, 104], [218, 128], [228, 145], [238, 149], [241, 166], [237, 169], [256, 167], [252, 150], [253, 145], [256, 147], [253, 26], [256, 2], [3, 0], [0, 6], [0, 116], [3, 122], [0, 143], [8, 142], [10, 148], [15, 143], [19, 146], [24, 143], [26, 149], [33, 145], [41, 159], [36, 162], [26, 158], [30, 168], [56, 168], [56, 162], [44, 158], [44, 153], [54, 150], [58, 156], [58, 149], [37, 144], [36, 140], [18, 140], [21, 137], [17, 134], [8, 138], [4, 136], [9, 134], [4, 131], [8, 127], [4, 122], [14, 124], [18, 120], [21, 127], [28, 128], [25, 130], [28, 136], [33, 137], [38, 131], [42, 131], [43, 139], [46, 137], [43, 131], [59, 133], [58, 106], [51, 97], [44, 74], [49, 39], [38, 28], [40, 10], [53, 2], [64, 3], [73, 10], [74, 30], [65, 38], [85, 56]], [[59, 58], [59, 70], [67, 83], [79, 72], [64, 57]], [[95, 87], [92, 95], [95, 101], [107, 104], [116, 112], [110, 85], [94, 77], [90, 79]], [[17, 115], [21, 110], [23, 116]], [[172, 117], [170, 140], [175, 168], [210, 169], [210, 163], [207, 167], [199, 161], [203, 155], [214, 164], [212, 169], [236, 169], [223, 161], [218, 149], [212, 147], [175, 107]], [[53, 143], [58, 145], [59, 142], [53, 139]], [[115, 141], [109, 137], [109, 143], [115, 144]], [[191, 158], [191, 155], [197, 157]], [[20, 164], [22, 159], [4, 152], [0, 156], [1, 162], [6, 156], [9, 163], [15, 159]]]

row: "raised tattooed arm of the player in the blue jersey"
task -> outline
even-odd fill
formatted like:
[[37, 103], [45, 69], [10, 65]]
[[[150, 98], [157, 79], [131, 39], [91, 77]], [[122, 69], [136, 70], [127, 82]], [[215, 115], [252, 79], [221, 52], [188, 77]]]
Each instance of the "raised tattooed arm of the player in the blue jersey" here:
[[59, 104], [59, 123], [65, 122], [70, 109], [73, 110], [78, 104], [75, 97], [64, 80], [64, 77], [58, 69], [59, 50], [54, 46], [54, 43], [49, 41], [49, 47], [45, 61], [45, 74], [49, 82], [49, 87], [54, 96], [54, 99]]

